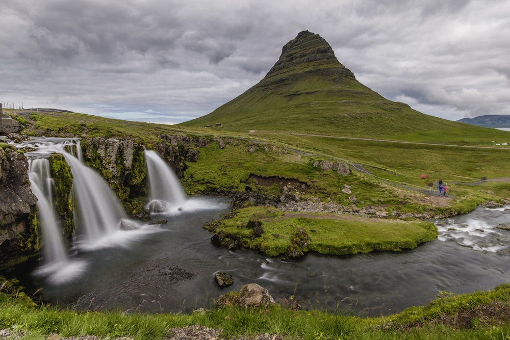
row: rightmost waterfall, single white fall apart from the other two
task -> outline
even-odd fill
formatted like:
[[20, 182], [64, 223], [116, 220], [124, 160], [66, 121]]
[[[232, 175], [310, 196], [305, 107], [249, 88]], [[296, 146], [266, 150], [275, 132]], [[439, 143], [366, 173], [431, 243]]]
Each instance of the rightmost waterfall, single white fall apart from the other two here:
[[187, 198], [179, 179], [156, 151], [143, 152], [149, 181], [147, 208], [152, 213], [181, 211]]

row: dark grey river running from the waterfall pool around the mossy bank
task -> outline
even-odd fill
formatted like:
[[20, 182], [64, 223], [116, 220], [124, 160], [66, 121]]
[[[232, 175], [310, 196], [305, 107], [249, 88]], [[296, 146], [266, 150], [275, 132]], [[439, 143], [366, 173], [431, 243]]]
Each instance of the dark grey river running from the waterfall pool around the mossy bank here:
[[[157, 154], [150, 156], [158, 167], [167, 167]], [[72, 169], [84, 166], [68, 153], [66, 159]], [[163, 187], [171, 170], [158, 171], [163, 176], [156, 185]], [[62, 284], [35, 275], [34, 287], [43, 287], [44, 300], [78, 309], [161, 313], [208, 308], [220, 294], [256, 282], [282, 303], [294, 296], [305, 309], [375, 316], [424, 305], [442, 291], [461, 294], [510, 282], [510, 231], [495, 228], [510, 222], [510, 207], [478, 207], [467, 215], [436, 221], [440, 237], [413, 250], [281, 260], [211, 243], [212, 234], [202, 226], [227, 214], [229, 199], [184, 195], [175, 203], [172, 197], [151, 198], [171, 207], [153, 213], [167, 223], [149, 227], [135, 221], [123, 228], [125, 216], [117, 212], [103, 228], [114, 224], [106, 232], [107, 246], [77, 246], [67, 256], [67, 261], [86, 264], [74, 278], [66, 277]], [[130, 242], [124, 242], [123, 235], [130, 231]], [[96, 241], [90, 243], [101, 244], [101, 235], [91, 236]], [[218, 271], [231, 273], [234, 285], [221, 289], [214, 280]]]

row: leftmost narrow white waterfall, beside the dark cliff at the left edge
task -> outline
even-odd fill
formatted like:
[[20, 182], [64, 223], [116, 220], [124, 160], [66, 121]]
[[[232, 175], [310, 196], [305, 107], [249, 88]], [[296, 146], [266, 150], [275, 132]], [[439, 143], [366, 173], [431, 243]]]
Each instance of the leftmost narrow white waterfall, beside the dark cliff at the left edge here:
[[29, 162], [29, 178], [32, 192], [37, 197], [38, 216], [42, 225], [43, 266], [36, 275], [60, 284], [79, 276], [87, 267], [83, 260], [69, 260], [53, 205], [53, 179], [49, 173], [49, 161], [44, 158]]

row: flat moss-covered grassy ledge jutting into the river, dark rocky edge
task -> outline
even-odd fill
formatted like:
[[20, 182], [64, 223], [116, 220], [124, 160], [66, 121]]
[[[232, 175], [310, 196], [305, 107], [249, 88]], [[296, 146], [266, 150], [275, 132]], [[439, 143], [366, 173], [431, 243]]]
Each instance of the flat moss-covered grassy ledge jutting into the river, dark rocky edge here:
[[346, 255], [413, 249], [438, 236], [432, 222], [362, 218], [346, 214], [283, 213], [247, 207], [205, 226], [212, 241], [229, 249], [299, 257], [309, 251]]

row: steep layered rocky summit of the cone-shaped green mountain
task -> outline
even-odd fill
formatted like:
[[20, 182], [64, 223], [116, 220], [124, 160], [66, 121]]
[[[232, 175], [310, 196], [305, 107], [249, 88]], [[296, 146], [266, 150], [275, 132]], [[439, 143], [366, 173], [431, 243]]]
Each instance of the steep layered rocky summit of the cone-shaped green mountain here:
[[340, 75], [355, 79], [354, 74], [335, 57], [333, 48], [320, 35], [302, 31], [284, 45], [282, 55], [266, 74], [271, 79], [281, 74], [318, 73], [322, 75]]

